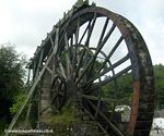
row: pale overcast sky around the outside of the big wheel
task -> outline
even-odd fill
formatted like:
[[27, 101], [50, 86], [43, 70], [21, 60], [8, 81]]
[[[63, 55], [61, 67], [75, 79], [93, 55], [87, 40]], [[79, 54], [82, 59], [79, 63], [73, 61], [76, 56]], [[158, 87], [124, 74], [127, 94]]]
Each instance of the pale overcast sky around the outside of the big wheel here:
[[[33, 57], [47, 33], [77, 0], [0, 0], [0, 45]], [[92, 2], [93, 0], [90, 0]], [[142, 34], [153, 64], [164, 64], [164, 0], [94, 0], [130, 20]]]

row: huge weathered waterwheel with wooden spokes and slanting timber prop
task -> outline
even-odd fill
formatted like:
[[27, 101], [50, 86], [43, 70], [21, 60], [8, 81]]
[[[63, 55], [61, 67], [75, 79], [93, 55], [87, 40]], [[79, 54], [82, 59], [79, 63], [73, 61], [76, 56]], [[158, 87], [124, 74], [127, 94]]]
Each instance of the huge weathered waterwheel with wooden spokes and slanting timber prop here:
[[37, 48], [30, 67], [32, 88], [9, 128], [43, 78], [48, 79], [54, 110], [60, 110], [69, 96], [80, 100], [83, 112], [109, 136], [149, 136], [154, 110], [152, 62], [142, 36], [124, 16], [78, 1]]

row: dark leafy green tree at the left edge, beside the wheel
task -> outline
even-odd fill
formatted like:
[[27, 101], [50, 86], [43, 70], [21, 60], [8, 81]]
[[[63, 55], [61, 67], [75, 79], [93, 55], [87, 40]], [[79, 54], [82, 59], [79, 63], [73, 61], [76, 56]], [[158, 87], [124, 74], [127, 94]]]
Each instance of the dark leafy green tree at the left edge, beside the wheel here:
[[[11, 45], [0, 47], [0, 119], [10, 122], [10, 107], [23, 90], [25, 59]], [[1, 123], [0, 123], [1, 124]]]

